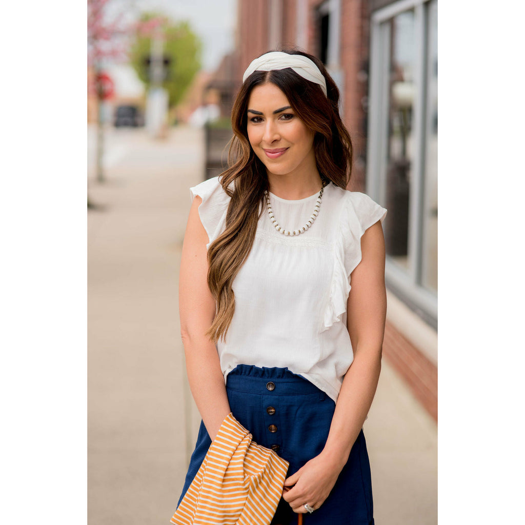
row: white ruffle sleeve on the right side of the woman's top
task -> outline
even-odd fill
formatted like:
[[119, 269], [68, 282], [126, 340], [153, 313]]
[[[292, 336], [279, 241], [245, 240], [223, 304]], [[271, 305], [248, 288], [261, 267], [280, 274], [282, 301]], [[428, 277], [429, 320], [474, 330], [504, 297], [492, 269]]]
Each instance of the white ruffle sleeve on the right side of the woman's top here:
[[378, 220], [383, 222], [386, 209], [360, 192], [346, 192], [339, 231], [334, 246], [334, 268], [330, 298], [324, 312], [321, 332], [341, 321], [350, 293], [350, 274], [361, 262], [361, 237]]

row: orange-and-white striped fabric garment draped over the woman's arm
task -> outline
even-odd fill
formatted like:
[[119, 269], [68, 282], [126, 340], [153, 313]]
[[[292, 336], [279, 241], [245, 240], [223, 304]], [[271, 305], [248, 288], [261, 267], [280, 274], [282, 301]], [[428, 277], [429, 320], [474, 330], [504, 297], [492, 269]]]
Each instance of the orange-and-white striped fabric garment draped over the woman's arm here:
[[257, 445], [232, 414], [188, 488], [173, 525], [269, 525], [286, 479], [288, 461]]

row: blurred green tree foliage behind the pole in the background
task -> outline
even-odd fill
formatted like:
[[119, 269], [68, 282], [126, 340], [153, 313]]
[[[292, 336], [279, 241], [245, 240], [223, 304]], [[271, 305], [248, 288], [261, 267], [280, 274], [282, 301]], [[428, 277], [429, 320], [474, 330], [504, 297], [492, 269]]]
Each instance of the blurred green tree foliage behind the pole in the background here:
[[[162, 87], [169, 93], [169, 105], [173, 107], [181, 100], [196, 72], [201, 69], [202, 43], [187, 22], [173, 23], [166, 16], [155, 13], [145, 13], [141, 22], [145, 23], [154, 18], [162, 20], [163, 54], [171, 60]], [[150, 50], [151, 37], [139, 32], [130, 49], [130, 62], [140, 80], [148, 87], [151, 82], [144, 60], [150, 55]]]

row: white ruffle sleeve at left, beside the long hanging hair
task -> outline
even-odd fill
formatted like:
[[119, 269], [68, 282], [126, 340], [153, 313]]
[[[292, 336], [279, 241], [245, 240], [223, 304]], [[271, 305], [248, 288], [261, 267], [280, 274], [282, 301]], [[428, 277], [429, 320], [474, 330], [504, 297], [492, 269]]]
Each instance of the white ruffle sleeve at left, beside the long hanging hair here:
[[224, 231], [230, 197], [223, 190], [218, 177], [208, 178], [208, 180], [191, 187], [192, 202], [196, 195], [202, 198], [202, 203], [198, 207], [198, 215], [208, 234], [207, 249]]

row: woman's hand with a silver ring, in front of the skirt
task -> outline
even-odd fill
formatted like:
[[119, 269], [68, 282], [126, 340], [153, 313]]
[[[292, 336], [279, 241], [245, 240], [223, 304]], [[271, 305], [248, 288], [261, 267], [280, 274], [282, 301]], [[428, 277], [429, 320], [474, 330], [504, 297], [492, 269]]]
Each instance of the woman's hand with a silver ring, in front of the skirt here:
[[285, 487], [293, 487], [283, 491], [282, 498], [293, 512], [308, 512], [304, 508], [305, 503], [316, 510], [328, 498], [341, 469], [321, 453], [285, 479]]

